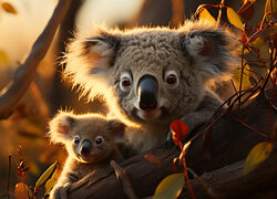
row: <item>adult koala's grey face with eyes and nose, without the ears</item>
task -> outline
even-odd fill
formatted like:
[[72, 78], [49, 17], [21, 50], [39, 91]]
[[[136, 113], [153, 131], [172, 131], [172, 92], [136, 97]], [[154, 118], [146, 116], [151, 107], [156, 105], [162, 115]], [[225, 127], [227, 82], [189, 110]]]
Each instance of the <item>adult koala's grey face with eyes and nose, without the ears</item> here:
[[168, 123], [197, 106], [203, 93], [202, 77], [189, 67], [193, 60], [182, 52], [175, 34], [148, 31], [121, 41], [120, 55], [114, 61], [116, 70], [107, 75], [129, 118]]

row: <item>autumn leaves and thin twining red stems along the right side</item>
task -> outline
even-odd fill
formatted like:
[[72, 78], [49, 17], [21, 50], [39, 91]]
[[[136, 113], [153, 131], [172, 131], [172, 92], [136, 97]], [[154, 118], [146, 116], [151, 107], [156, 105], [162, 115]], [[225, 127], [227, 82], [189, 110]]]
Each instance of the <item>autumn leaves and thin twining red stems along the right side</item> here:
[[[276, 85], [276, 43], [277, 43], [277, 33], [276, 29], [276, 15], [277, 15], [277, 3], [276, 1], [267, 0], [265, 4], [265, 14], [263, 21], [260, 21], [257, 28], [253, 31], [247, 21], [252, 19], [254, 15], [253, 6], [255, 0], [244, 0], [239, 10], [236, 12], [232, 8], [224, 4], [224, 0], [219, 4], [201, 4], [195, 13], [196, 18], [208, 20], [212, 23], [219, 24], [222, 21], [222, 11], [226, 10], [227, 22], [220, 24], [222, 27], [228, 27], [228, 31], [233, 32], [235, 28], [236, 35], [242, 43], [242, 64], [240, 70], [238, 70], [235, 74], [235, 82], [232, 81], [235, 94], [230, 96], [224, 104], [228, 105], [228, 108], [223, 111], [218, 108], [215, 115], [211, 118], [206, 128], [194, 136], [191, 140], [188, 140], [185, 145], [182, 144], [184, 136], [188, 135], [188, 128], [185, 123], [181, 121], [174, 121], [171, 124], [171, 130], [173, 133], [173, 140], [176, 146], [179, 147], [181, 154], [178, 158], [174, 159], [174, 165], [176, 163], [183, 164], [184, 174], [174, 174], [166, 177], [156, 188], [154, 198], [160, 198], [161, 192], [163, 195], [168, 196], [168, 198], [177, 198], [184, 182], [181, 180], [183, 178], [186, 179], [188, 189], [191, 191], [192, 197], [194, 198], [194, 192], [189, 185], [189, 179], [187, 177], [187, 168], [185, 163], [185, 154], [189, 147], [192, 140], [194, 140], [199, 135], [204, 134], [204, 143], [203, 150], [204, 155], [207, 158], [211, 158], [209, 155], [209, 146], [213, 139], [213, 125], [219, 121], [223, 116], [229, 115], [234, 121], [243, 124], [244, 126], [250, 128], [246, 124], [244, 124], [239, 118], [230, 115], [230, 111], [234, 107], [239, 107], [247, 101], [256, 97], [258, 94], [264, 95], [268, 98], [270, 104], [269, 116], [267, 123], [266, 133], [260, 133], [254, 128], [255, 133], [261, 135], [267, 140], [257, 144], [250, 150], [249, 155], [246, 158], [244, 175], [253, 171], [255, 168], [259, 166], [265, 159], [270, 156], [273, 150], [273, 146], [275, 143], [275, 133], [277, 128], [277, 122], [274, 127], [273, 135], [269, 135], [269, 126], [271, 123], [271, 112], [273, 109], [277, 109], [274, 105], [275, 97], [275, 85]], [[209, 12], [208, 8], [217, 8], [218, 15], [215, 19]], [[242, 20], [243, 18], [243, 20]], [[235, 85], [236, 84], [236, 85]], [[270, 87], [273, 90], [271, 96], [268, 97], [265, 94], [265, 88]], [[223, 104], [223, 105], [224, 105]], [[163, 168], [162, 163], [155, 158], [147, 156], [147, 159], [158, 167]], [[174, 166], [175, 168], [175, 166]], [[172, 182], [172, 179], [176, 178], [176, 184]]]

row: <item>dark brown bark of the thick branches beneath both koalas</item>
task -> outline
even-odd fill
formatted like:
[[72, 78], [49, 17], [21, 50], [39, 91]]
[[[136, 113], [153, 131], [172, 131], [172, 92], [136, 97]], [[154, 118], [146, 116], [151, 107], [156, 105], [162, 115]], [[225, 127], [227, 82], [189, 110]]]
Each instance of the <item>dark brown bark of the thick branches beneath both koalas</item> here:
[[[187, 167], [198, 176], [204, 174], [203, 181], [206, 181], [215, 193], [218, 192], [219, 198], [252, 197], [260, 191], [276, 189], [276, 151], [264, 163], [263, 167], [242, 177], [244, 159], [256, 144], [266, 140], [265, 136], [257, 134], [248, 126], [255, 130], [265, 132], [268, 111], [269, 103], [260, 95], [216, 123], [213, 127], [213, 140], [209, 143], [211, 159], [207, 159], [207, 153], [203, 151], [203, 135], [191, 144], [186, 154]], [[277, 118], [276, 116], [277, 113], [274, 112], [271, 124]], [[273, 125], [270, 132], [271, 128]], [[140, 198], [152, 196], [161, 180], [173, 172], [172, 163], [179, 151], [176, 147], [171, 149], [164, 147], [150, 154], [157, 156], [167, 169], [152, 165], [144, 158], [144, 155], [136, 155], [120, 164], [129, 175], [134, 192]], [[226, 167], [227, 165], [229, 166]], [[208, 177], [211, 175], [215, 177]], [[197, 186], [194, 182], [196, 196], [202, 198], [205, 192]], [[126, 198], [122, 185], [109, 166], [73, 184], [69, 197]]]

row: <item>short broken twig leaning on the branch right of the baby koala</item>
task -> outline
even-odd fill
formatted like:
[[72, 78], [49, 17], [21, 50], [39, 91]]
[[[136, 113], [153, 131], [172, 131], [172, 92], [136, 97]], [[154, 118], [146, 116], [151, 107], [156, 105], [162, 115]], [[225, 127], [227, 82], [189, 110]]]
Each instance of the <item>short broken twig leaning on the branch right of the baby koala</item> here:
[[126, 196], [130, 199], [138, 199], [138, 197], [134, 192], [133, 186], [127, 177], [126, 171], [121, 166], [119, 166], [114, 160], [111, 161], [111, 167], [114, 169], [117, 179], [121, 180]]

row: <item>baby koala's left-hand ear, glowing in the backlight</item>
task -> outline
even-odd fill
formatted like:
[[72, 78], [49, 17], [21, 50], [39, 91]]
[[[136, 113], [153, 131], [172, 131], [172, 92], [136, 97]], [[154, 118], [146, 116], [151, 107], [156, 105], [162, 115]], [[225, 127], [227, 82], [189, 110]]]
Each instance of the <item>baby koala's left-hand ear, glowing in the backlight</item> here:
[[69, 137], [69, 130], [74, 125], [75, 118], [72, 114], [60, 112], [49, 124], [49, 137], [52, 143], [64, 143]]

